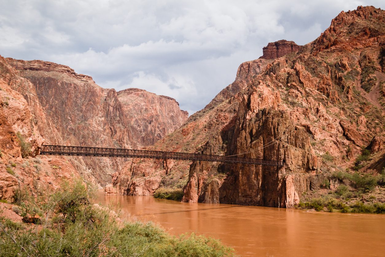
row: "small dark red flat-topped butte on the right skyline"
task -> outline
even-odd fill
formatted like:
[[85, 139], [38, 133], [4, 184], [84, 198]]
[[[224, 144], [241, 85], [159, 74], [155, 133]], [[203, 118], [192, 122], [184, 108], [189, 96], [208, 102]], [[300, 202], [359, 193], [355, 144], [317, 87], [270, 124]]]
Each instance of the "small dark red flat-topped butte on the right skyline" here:
[[263, 47], [263, 55], [259, 59], [276, 59], [280, 58], [291, 52], [300, 50], [301, 45], [295, 44], [294, 41], [278, 40], [276, 42], [270, 42], [267, 46]]

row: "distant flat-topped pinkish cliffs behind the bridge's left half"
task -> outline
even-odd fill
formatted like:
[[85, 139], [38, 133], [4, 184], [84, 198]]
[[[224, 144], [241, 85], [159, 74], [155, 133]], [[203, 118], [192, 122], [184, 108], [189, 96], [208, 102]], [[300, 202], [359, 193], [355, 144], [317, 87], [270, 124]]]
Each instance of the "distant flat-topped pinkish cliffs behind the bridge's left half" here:
[[[92, 77], [76, 74], [67, 66], [11, 58], [6, 62], [32, 83], [37, 96], [32, 100], [47, 108], [42, 110], [44, 116], [35, 118], [46, 144], [137, 149], [179, 128], [188, 116], [171, 97], [141, 89], [104, 89]], [[39, 106], [33, 101], [28, 104]], [[109, 183], [111, 174], [127, 161], [101, 157], [70, 160], [84, 177], [99, 185]]]

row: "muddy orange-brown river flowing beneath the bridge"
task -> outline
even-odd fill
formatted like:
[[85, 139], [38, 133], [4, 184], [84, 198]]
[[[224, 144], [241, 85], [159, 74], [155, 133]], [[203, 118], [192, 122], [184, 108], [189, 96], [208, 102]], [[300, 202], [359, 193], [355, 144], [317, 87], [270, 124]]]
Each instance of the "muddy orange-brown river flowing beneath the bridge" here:
[[385, 215], [102, 194], [97, 202], [118, 207], [127, 220], [151, 220], [173, 235], [196, 232], [220, 239], [241, 256], [385, 256]]

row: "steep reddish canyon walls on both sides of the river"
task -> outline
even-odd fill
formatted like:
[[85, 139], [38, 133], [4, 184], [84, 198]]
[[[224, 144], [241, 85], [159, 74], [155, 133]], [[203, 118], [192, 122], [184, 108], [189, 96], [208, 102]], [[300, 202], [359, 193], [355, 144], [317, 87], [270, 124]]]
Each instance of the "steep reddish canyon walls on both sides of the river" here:
[[[358, 7], [306, 45], [269, 43], [190, 117], [167, 96], [104, 89], [67, 66], [1, 57], [0, 72], [13, 82], [0, 79], [0, 198], [23, 186], [55, 188], [63, 177], [105, 186], [112, 176], [107, 194], [152, 195], [167, 187], [183, 189], [184, 202], [291, 208], [325, 181], [335, 188], [330, 175], [354, 166], [362, 148], [371, 160], [360, 171], [380, 173], [384, 20], [383, 10]], [[31, 145], [27, 158], [23, 140]], [[236, 155], [285, 166], [34, 156], [43, 143]]]

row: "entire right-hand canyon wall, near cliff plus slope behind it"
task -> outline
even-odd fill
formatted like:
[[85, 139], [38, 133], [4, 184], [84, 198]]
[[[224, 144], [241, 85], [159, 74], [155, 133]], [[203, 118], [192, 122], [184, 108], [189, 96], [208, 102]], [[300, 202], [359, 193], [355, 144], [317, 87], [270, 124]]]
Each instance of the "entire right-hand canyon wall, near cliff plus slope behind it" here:
[[285, 160], [281, 170], [141, 160], [114, 175], [118, 193], [151, 195], [158, 186], [187, 182], [186, 202], [294, 207], [304, 192], [331, 181], [331, 173], [352, 168], [362, 147], [372, 149], [371, 164], [354, 168], [380, 172], [385, 160], [379, 143], [385, 131], [383, 21], [384, 11], [374, 7], [341, 12], [298, 52], [242, 64], [233, 84], [153, 146]]

